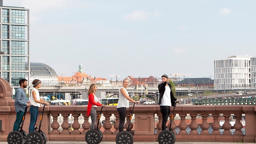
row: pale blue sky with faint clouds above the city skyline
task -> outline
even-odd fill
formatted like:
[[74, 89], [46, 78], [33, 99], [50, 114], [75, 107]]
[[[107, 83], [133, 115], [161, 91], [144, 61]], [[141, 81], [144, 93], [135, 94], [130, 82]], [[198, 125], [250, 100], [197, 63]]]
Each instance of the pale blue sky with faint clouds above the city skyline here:
[[[214, 60], [256, 55], [255, 0], [4, 0], [30, 9], [30, 61], [72, 76], [214, 78]], [[183, 75], [179, 75], [183, 77]], [[178, 77], [179, 77], [178, 76]], [[173, 76], [171, 76], [173, 77]]]

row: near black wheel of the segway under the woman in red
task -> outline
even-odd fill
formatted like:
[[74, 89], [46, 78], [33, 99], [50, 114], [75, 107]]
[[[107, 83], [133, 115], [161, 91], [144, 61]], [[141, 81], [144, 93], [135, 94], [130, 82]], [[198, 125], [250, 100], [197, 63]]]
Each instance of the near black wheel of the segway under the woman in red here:
[[100, 132], [98, 132], [97, 130], [89, 130], [85, 133], [85, 141], [88, 144], [98, 144], [100, 143]]

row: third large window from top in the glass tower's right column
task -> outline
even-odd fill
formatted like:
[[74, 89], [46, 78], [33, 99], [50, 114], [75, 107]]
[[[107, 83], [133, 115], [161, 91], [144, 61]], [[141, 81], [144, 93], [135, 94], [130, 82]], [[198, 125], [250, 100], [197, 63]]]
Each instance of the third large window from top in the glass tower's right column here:
[[25, 55], [25, 42], [12, 41], [11, 48], [12, 54]]

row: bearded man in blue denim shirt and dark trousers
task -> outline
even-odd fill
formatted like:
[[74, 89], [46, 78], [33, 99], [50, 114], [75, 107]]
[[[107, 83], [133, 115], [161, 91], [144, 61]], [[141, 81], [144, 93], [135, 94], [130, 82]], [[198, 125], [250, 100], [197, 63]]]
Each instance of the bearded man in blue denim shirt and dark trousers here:
[[13, 124], [13, 131], [19, 131], [20, 124], [22, 122], [22, 116], [24, 115], [25, 108], [30, 106], [27, 102], [27, 95], [25, 93], [24, 88], [28, 85], [28, 80], [25, 78], [20, 79], [19, 81], [20, 88], [15, 93], [15, 112], [16, 112], [16, 120]]

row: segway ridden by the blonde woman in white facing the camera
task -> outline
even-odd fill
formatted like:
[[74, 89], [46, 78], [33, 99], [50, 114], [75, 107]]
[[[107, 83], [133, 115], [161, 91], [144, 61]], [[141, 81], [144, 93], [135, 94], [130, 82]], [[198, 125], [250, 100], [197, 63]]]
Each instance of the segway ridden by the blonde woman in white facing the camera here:
[[132, 144], [133, 143], [132, 131], [129, 128], [132, 120], [132, 113], [133, 113], [134, 106], [135, 106], [135, 103], [133, 104], [133, 107], [132, 107], [130, 121], [126, 131], [118, 132], [116, 135], [116, 144]]

